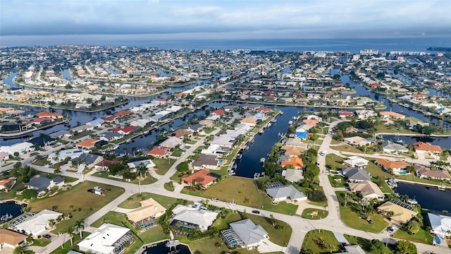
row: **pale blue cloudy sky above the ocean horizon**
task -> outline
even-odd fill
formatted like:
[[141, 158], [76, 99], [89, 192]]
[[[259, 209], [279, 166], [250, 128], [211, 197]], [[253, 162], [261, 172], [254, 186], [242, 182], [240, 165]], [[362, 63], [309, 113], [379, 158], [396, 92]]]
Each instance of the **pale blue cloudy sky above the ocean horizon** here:
[[451, 37], [450, 0], [1, 0], [0, 37]]

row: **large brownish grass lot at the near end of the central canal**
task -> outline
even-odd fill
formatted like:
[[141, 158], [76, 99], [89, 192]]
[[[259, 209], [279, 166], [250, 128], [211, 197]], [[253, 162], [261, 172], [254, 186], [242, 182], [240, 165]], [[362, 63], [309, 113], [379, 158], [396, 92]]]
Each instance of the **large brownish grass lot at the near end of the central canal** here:
[[[215, 172], [216, 173], [216, 172]], [[237, 204], [256, 207], [268, 211], [280, 212], [283, 214], [295, 214], [297, 205], [279, 202], [278, 205], [272, 205], [271, 199], [264, 191], [258, 190], [254, 179], [244, 177], [230, 176], [219, 181], [206, 191], [188, 191], [183, 189], [182, 193], [197, 195], [204, 198], [218, 198], [226, 202], [235, 200]], [[245, 200], [249, 199], [249, 202]]]

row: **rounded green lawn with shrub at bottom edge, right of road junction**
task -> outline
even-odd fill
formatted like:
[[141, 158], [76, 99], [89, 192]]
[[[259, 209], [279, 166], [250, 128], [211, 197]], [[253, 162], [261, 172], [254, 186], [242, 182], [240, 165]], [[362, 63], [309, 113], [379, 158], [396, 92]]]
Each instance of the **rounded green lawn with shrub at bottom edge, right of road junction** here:
[[[319, 241], [328, 243], [328, 246], [318, 244]], [[302, 248], [311, 250], [311, 253], [336, 253], [340, 252], [340, 243], [330, 231], [312, 230], [305, 236]]]

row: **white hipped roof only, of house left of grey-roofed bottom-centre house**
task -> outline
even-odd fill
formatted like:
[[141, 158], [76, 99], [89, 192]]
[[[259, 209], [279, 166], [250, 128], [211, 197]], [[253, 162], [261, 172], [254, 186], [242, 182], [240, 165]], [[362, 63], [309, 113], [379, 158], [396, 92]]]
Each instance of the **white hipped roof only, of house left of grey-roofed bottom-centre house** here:
[[192, 206], [177, 205], [173, 209], [173, 214], [180, 222], [188, 222], [191, 224], [199, 225], [201, 228], [208, 228], [218, 217], [218, 212], [211, 212], [209, 210], [200, 209], [200, 204], [194, 204]]

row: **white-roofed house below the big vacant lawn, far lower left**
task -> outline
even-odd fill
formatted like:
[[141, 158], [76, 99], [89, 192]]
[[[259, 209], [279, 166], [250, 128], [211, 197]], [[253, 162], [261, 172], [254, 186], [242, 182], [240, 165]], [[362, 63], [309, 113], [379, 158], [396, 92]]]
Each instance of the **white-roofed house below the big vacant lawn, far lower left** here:
[[13, 226], [13, 229], [15, 229], [16, 231], [24, 232], [24, 234], [37, 237], [43, 234], [44, 231], [50, 229], [50, 219], [56, 220], [58, 219], [58, 217], [62, 216], [63, 214], [61, 212], [44, 209], [41, 212], [32, 215], [31, 217], [26, 217], [26, 219], [18, 221], [18, 224], [14, 223], [15, 226]]

